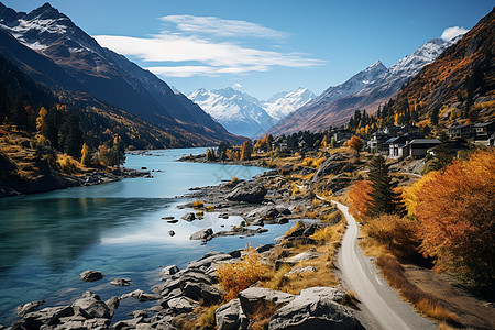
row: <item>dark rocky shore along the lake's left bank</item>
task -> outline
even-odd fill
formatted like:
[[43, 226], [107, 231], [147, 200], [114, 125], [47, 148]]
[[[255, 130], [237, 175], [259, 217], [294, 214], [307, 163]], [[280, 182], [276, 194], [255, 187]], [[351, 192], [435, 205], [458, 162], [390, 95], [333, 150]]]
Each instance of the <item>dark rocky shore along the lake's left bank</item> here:
[[13, 178], [2, 179], [0, 183], [0, 198], [47, 193], [72, 187], [92, 186], [131, 177], [151, 177], [151, 173], [130, 168], [114, 168], [110, 172], [91, 169], [78, 175], [66, 175], [50, 169], [45, 174], [29, 182]]

